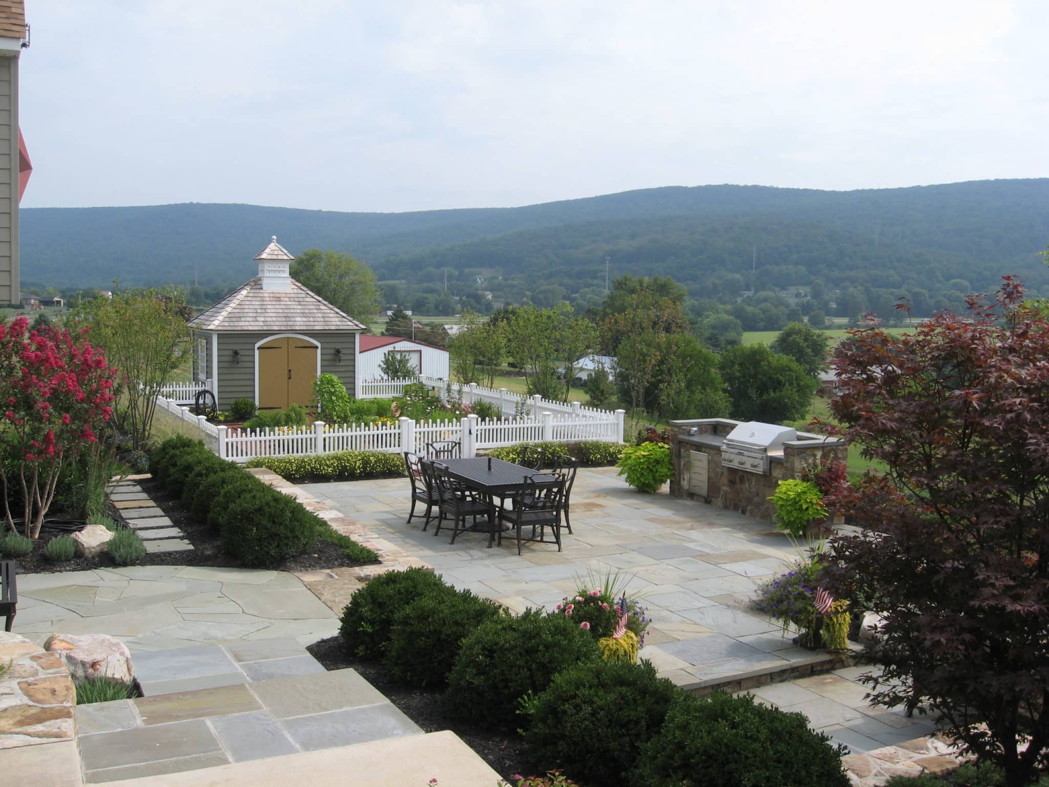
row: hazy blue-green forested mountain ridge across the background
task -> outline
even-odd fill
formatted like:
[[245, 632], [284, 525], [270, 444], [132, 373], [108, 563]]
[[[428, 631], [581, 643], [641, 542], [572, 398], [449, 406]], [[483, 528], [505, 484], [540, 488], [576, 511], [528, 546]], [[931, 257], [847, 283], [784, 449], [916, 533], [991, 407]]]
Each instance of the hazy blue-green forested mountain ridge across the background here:
[[[521, 302], [663, 274], [693, 298], [808, 285], [948, 293], [1019, 274], [1049, 292], [1049, 179], [828, 192], [668, 187], [508, 209], [335, 213], [247, 205], [27, 209], [23, 281], [62, 290], [235, 284], [270, 235], [298, 253], [346, 251], [412, 293]], [[481, 281], [478, 282], [478, 277]], [[738, 278], [735, 278], [738, 277]], [[438, 286], [440, 282], [440, 286]], [[543, 290], [541, 294], [539, 291]], [[723, 292], [726, 291], [726, 292]], [[584, 298], [585, 299], [585, 298]]]

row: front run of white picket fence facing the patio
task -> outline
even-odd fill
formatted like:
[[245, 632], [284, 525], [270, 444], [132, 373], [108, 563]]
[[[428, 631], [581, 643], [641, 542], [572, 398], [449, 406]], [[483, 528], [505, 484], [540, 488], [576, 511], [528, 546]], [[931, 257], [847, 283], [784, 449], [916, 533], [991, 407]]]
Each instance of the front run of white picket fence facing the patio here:
[[336, 451], [424, 453], [427, 443], [453, 440], [459, 443], [463, 456], [475, 456], [478, 449], [539, 441], [621, 443], [624, 411], [616, 410], [608, 414], [611, 418], [600, 420], [543, 412], [538, 420], [481, 421], [476, 416], [468, 416], [457, 422], [440, 423], [415, 423], [411, 419], [400, 418], [397, 424], [329, 425], [315, 421], [311, 426], [276, 429], [218, 426], [218, 455], [233, 462], [248, 462], [259, 456], [307, 456]]

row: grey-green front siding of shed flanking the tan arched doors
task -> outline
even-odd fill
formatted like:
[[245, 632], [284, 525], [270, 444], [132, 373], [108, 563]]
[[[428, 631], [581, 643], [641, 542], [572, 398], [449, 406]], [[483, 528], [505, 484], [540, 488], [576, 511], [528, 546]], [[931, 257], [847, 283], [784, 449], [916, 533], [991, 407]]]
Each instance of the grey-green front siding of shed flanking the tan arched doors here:
[[[255, 345], [271, 336], [279, 336], [282, 331], [252, 331], [218, 334], [218, 409], [230, 409], [234, 399], [247, 398], [257, 403], [255, 398]], [[320, 342], [321, 374], [330, 374], [342, 380], [346, 389], [354, 392], [354, 331], [315, 331], [302, 334]], [[336, 348], [342, 349], [342, 358], [335, 359]], [[233, 362], [233, 350], [239, 349], [239, 363]]]

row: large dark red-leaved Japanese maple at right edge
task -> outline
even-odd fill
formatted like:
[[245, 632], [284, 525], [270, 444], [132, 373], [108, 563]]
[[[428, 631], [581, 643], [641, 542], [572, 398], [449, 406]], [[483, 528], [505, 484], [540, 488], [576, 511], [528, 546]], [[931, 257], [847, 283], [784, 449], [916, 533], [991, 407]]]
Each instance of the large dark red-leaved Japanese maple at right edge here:
[[874, 701], [927, 702], [1010, 787], [1049, 765], [1049, 320], [1022, 295], [1007, 277], [989, 305], [838, 345], [831, 409], [886, 471], [840, 502], [861, 531], [826, 561], [884, 620]]

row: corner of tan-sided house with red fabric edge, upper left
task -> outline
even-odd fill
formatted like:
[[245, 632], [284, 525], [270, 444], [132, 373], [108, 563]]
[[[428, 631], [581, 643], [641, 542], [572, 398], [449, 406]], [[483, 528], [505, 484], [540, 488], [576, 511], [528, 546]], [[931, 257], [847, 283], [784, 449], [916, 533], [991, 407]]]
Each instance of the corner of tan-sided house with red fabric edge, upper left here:
[[33, 165], [18, 128], [19, 56], [28, 46], [25, 4], [0, 2], [0, 303], [18, 303], [18, 204]]

